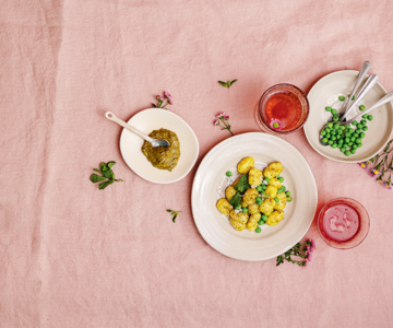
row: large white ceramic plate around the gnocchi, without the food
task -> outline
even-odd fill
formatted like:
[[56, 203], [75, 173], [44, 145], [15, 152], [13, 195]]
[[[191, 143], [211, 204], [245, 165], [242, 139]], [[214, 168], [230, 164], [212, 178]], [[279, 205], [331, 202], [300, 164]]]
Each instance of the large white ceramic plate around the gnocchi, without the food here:
[[[294, 201], [276, 226], [261, 233], [236, 231], [216, 208], [218, 195], [227, 181], [225, 173], [235, 173], [238, 162], [247, 156], [257, 167], [279, 161], [284, 165], [284, 185]], [[312, 172], [300, 152], [285, 140], [267, 133], [245, 133], [218, 143], [203, 159], [192, 186], [192, 214], [195, 225], [215, 250], [236, 259], [259, 261], [283, 254], [306, 234], [317, 210], [317, 186]]]

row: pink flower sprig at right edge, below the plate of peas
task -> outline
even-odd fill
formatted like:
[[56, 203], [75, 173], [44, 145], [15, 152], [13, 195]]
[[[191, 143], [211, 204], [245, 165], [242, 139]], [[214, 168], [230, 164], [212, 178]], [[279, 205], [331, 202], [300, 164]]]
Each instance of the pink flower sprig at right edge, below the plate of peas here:
[[360, 162], [358, 165], [368, 172], [368, 175], [376, 178], [376, 183], [382, 185], [388, 190], [392, 190], [392, 172], [393, 159], [391, 152], [393, 151], [393, 140], [389, 141], [382, 153], [377, 154], [367, 162]]

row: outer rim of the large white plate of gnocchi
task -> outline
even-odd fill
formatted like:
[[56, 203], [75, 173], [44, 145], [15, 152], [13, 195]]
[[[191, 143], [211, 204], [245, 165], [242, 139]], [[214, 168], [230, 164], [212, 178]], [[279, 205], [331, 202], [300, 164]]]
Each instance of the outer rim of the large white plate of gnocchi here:
[[[312, 215], [310, 215], [310, 220], [307, 224], [307, 229], [305, 229], [305, 231], [302, 231], [299, 235], [296, 236], [296, 238], [294, 238], [294, 241], [290, 241], [290, 243], [288, 243], [288, 245], [286, 245], [285, 247], [282, 247], [279, 251], [275, 251], [274, 254], [267, 256], [267, 257], [263, 257], [263, 258], [241, 258], [241, 257], [238, 257], [238, 256], [231, 256], [230, 254], [227, 254], [221, 249], [217, 249], [217, 247], [215, 247], [215, 245], [212, 245], [211, 244], [211, 241], [209, 241], [209, 236], [204, 235], [204, 233], [201, 231], [201, 226], [200, 226], [200, 222], [199, 220], [195, 218], [195, 200], [194, 200], [194, 197], [195, 197], [195, 179], [199, 178], [199, 175], [201, 174], [202, 169], [204, 169], [204, 164], [205, 162], [207, 162], [210, 160], [210, 157], [212, 155], [214, 155], [214, 152], [224, 147], [226, 143], [230, 143], [233, 142], [234, 140], [236, 139], [239, 139], [239, 138], [245, 138], [245, 137], [263, 137], [263, 138], [266, 138], [266, 139], [273, 139], [273, 140], [278, 140], [279, 142], [283, 142], [284, 144], [286, 144], [288, 148], [293, 149], [293, 151], [295, 151], [296, 153], [298, 153], [298, 155], [303, 160], [303, 164], [305, 164], [305, 169], [308, 171], [310, 177], [311, 177], [311, 180], [312, 180], [312, 186], [313, 186], [313, 194], [315, 196], [315, 201], [312, 206]], [[300, 153], [300, 151], [294, 147], [293, 144], [290, 144], [289, 142], [287, 142], [286, 140], [279, 138], [279, 137], [276, 137], [276, 136], [273, 136], [273, 134], [269, 134], [269, 133], [264, 133], [264, 132], [247, 132], [247, 133], [241, 133], [241, 134], [237, 134], [237, 136], [234, 136], [234, 137], [230, 137], [226, 140], [223, 140], [222, 142], [219, 142], [218, 144], [216, 144], [214, 148], [212, 148], [207, 154], [203, 157], [203, 160], [201, 161], [199, 167], [198, 167], [198, 171], [195, 173], [195, 176], [194, 176], [194, 179], [193, 179], [193, 183], [192, 183], [192, 190], [191, 190], [191, 211], [192, 211], [192, 218], [194, 220], [194, 223], [195, 223], [195, 226], [200, 233], [200, 235], [202, 236], [202, 238], [207, 243], [209, 246], [211, 246], [213, 249], [215, 249], [216, 251], [218, 251], [219, 254], [224, 255], [224, 256], [227, 256], [229, 258], [233, 258], [233, 259], [237, 259], [237, 260], [245, 260], [245, 261], [263, 261], [263, 260], [269, 260], [269, 259], [272, 259], [274, 257], [277, 257], [278, 255], [282, 255], [283, 253], [285, 253], [286, 250], [290, 249], [294, 245], [296, 245], [306, 234], [307, 232], [309, 231], [314, 218], [315, 218], [315, 213], [317, 213], [317, 208], [318, 208], [318, 188], [317, 188], [317, 183], [315, 183], [315, 178], [312, 174], [312, 171], [311, 171], [311, 167], [310, 165], [308, 164], [306, 157]]]

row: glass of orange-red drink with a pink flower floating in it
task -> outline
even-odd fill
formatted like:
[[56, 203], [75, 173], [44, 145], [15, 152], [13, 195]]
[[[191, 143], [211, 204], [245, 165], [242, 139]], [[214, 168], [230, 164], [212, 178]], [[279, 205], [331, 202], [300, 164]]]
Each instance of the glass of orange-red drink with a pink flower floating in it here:
[[[269, 87], [255, 108], [259, 127], [267, 132], [287, 134], [299, 130], [309, 116], [309, 102], [297, 86], [281, 83]], [[275, 129], [273, 124], [279, 122]]]

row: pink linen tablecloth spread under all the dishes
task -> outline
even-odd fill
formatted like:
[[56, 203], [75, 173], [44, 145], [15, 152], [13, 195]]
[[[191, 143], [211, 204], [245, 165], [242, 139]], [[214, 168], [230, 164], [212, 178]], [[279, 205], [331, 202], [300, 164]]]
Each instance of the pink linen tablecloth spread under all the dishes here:
[[[203, 241], [190, 202], [198, 165], [229, 137], [215, 114], [258, 131], [269, 86], [308, 92], [364, 60], [392, 90], [392, 1], [0, 4], [1, 328], [393, 327], [392, 194], [317, 154], [302, 130], [285, 139], [313, 171], [319, 209], [347, 196], [369, 211], [359, 247], [327, 247], [314, 222], [308, 268], [234, 260]], [[104, 113], [128, 119], [164, 90], [201, 151], [184, 179], [154, 185], [124, 164]], [[99, 191], [88, 177], [102, 161], [124, 181]], [[176, 224], [168, 208], [182, 211]]]

